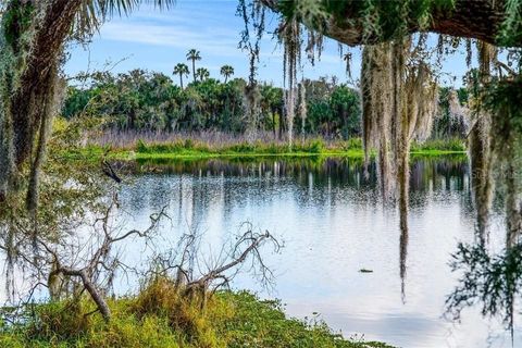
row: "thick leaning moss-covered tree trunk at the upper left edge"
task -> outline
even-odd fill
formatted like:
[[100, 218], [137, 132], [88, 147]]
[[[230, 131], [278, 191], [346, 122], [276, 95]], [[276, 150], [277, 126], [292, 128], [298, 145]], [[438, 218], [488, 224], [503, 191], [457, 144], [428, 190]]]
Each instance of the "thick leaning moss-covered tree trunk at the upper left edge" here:
[[[38, 134], [45, 142], [40, 128], [57, 112], [54, 94], [63, 42], [82, 2], [11, 1], [2, 15], [0, 163], [12, 167], [0, 171], [0, 200], [14, 189], [13, 176], [32, 157], [33, 166], [41, 165], [41, 146], [34, 153], [34, 145]], [[38, 174], [35, 167], [32, 172]]]

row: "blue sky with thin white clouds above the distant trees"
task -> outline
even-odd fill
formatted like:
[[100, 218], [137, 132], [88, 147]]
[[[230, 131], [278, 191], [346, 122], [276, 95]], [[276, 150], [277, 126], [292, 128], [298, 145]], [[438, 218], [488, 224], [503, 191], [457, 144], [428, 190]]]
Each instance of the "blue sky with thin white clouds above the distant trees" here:
[[[196, 48], [202, 57], [198, 65], [209, 69], [211, 77], [219, 78], [220, 67], [224, 64], [234, 66], [236, 77], [247, 77], [248, 57], [237, 48], [244, 23], [235, 15], [236, 7], [237, 0], [177, 0], [172, 9], [163, 12], [141, 5], [129, 16], [105, 23], [88, 48], [71, 48], [65, 72], [73, 75], [88, 67], [104, 70], [108, 64], [112, 66], [120, 62], [112, 69], [113, 72], [139, 67], [172, 76], [173, 66], [186, 62], [186, 52]], [[276, 24], [277, 16], [269, 13], [268, 29], [273, 29]], [[360, 49], [350, 50], [353, 54], [352, 73], [357, 78]], [[282, 85], [282, 66], [283, 52], [272, 35], [265, 34], [258, 79]], [[345, 69], [337, 42], [325, 40], [321, 61], [315, 66], [306, 64], [303, 75], [308, 78], [335, 75], [340, 82], [347, 82]], [[463, 54], [450, 58], [445, 63], [445, 70], [461, 75], [465, 71]], [[173, 79], [177, 83], [177, 78]], [[460, 85], [460, 82], [456, 84]]]

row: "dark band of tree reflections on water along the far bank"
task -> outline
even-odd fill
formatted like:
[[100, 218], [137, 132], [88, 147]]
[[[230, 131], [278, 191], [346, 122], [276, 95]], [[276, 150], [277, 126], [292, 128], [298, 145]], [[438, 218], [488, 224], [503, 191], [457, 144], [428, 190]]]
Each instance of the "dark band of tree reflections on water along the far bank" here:
[[[460, 157], [456, 159], [418, 159], [412, 160], [410, 187], [413, 191], [468, 189], [468, 164]], [[127, 170], [135, 173], [192, 174], [225, 177], [273, 178], [293, 177], [298, 184], [308, 186], [309, 174], [312, 174], [314, 187], [326, 185], [347, 186], [351, 188], [374, 189], [377, 185], [375, 163], [369, 169], [370, 176], [364, 177], [363, 163], [359, 159], [349, 158], [307, 158], [279, 159], [261, 158], [249, 161], [238, 160], [200, 160], [200, 161], [145, 161], [134, 163]]]

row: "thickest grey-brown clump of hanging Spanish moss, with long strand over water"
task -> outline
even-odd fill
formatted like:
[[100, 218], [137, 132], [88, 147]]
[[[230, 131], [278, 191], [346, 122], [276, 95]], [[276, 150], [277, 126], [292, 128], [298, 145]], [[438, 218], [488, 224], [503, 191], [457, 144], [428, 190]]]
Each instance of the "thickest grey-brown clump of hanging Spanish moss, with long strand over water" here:
[[[410, 144], [430, 136], [438, 108], [435, 74], [424, 62], [424, 38], [365, 46], [361, 95], [364, 162], [377, 151], [380, 188], [385, 201], [397, 200], [400, 226], [400, 278], [405, 299], [409, 239]], [[366, 174], [368, 175], [368, 174]]]

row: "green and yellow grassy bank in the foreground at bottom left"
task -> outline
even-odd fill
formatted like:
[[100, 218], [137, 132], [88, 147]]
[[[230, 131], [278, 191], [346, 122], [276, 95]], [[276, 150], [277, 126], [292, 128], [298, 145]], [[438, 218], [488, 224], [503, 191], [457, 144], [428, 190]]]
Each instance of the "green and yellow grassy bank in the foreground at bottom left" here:
[[[22, 324], [0, 325], [0, 346], [158, 348], [393, 348], [345, 338], [316, 314], [286, 318], [279, 301], [247, 291], [217, 291], [201, 311], [198, 298], [181, 296], [169, 279], [156, 279], [137, 296], [112, 299], [110, 322], [86, 299], [32, 304]], [[253, 347], [252, 346], [252, 347]]]

